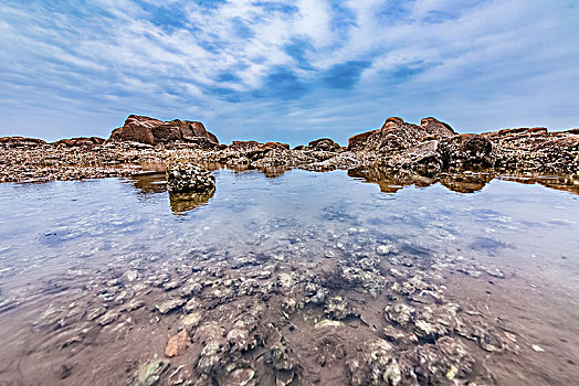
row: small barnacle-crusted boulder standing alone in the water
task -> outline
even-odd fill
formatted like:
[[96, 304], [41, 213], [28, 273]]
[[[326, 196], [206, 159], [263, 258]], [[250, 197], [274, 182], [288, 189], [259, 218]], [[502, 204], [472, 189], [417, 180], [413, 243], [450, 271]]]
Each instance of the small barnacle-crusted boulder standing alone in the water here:
[[173, 193], [203, 193], [215, 191], [211, 172], [190, 162], [173, 161], [167, 164], [167, 189]]

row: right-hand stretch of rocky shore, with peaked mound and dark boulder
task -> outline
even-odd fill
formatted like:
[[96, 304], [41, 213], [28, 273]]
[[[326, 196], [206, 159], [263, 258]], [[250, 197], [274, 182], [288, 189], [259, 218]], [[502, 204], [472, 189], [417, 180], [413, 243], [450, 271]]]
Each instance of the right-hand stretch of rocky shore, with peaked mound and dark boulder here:
[[388, 118], [381, 129], [350, 138], [348, 150], [391, 170], [422, 175], [497, 169], [564, 172], [579, 170], [579, 131], [548, 132], [545, 128], [457, 135], [434, 118], [420, 126]]

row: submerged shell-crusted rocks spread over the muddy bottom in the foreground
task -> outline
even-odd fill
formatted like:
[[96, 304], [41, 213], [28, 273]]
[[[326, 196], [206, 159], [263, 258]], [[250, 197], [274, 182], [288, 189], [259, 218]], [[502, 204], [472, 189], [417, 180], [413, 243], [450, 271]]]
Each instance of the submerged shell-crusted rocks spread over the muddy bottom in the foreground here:
[[[519, 353], [524, 331], [505, 333], [489, 311], [446, 300], [442, 283], [449, 271], [493, 280], [502, 271], [462, 256], [424, 259], [361, 227], [346, 235], [327, 235], [309, 262], [288, 253], [318, 239], [313, 228], [270, 254], [199, 246], [169, 261], [71, 271], [42, 283], [62, 298], [33, 322], [46, 337], [39, 350], [74, 358], [97, 336], [120, 352], [129, 340], [140, 360], [113, 372], [129, 384], [280, 386], [493, 384], [487, 356]], [[78, 363], [61, 376], [82, 383]]]

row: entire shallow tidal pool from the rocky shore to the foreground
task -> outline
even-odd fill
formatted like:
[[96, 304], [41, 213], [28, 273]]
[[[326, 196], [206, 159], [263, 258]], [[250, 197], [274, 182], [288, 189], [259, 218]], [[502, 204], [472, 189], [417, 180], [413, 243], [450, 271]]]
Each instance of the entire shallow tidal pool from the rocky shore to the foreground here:
[[[474, 363], [464, 371], [456, 363], [461, 383], [565, 384], [579, 376], [578, 195], [505, 180], [455, 187], [474, 191], [459, 193], [441, 184], [365, 183], [364, 173], [343, 171], [293, 170], [275, 178], [256, 171], [214, 173], [214, 195], [180, 200], [170, 200], [156, 175], [1, 184], [0, 384], [138, 382], [139, 366], [164, 357], [165, 344], [191, 311], [156, 309], [179, 297], [200, 300], [200, 325], [221, 323], [219, 340], [232, 328], [227, 321], [232, 310], [242, 318], [244, 309], [263, 304], [256, 317], [283, 337], [256, 328], [261, 335], [253, 346], [222, 350], [220, 365], [207, 369], [200, 364], [207, 339], [191, 336], [193, 344], [171, 358], [161, 384], [235, 384], [235, 368], [251, 368], [250, 384], [274, 378], [284, 384], [283, 376], [292, 384], [355, 384], [352, 356], [364, 354], [369, 339], [388, 341], [382, 330], [390, 324], [407, 336], [390, 342], [387, 362], [397, 357], [412, 368], [412, 355], [446, 342], [436, 343], [440, 336], [415, 342], [412, 325], [385, 317], [385, 307], [401, 301], [417, 309], [415, 320], [428, 313], [424, 307], [452, 302], [469, 323], [474, 323], [471, 317], [481, 319], [478, 330], [499, 331], [495, 337], [488, 333], [491, 341], [493, 341], [497, 350], [481, 337], [471, 342], [456, 326], [440, 334], [462, 342], [472, 356], [464, 358]], [[370, 278], [347, 281], [344, 267]], [[261, 287], [243, 290], [248, 278], [261, 280]], [[411, 293], [392, 287], [412, 278], [423, 285]], [[196, 280], [201, 283], [196, 293], [175, 296]], [[308, 285], [322, 288], [326, 300], [310, 301]], [[444, 300], [415, 299], [424, 290]], [[327, 300], [337, 296], [348, 303], [344, 318]], [[288, 298], [298, 305], [287, 305]], [[135, 300], [144, 304], [127, 310]], [[118, 312], [110, 322], [90, 320], [99, 307]], [[325, 318], [351, 331], [301, 333]], [[356, 342], [348, 341], [356, 334]], [[343, 344], [343, 353], [320, 361], [328, 341]], [[276, 367], [267, 354], [262, 361], [260, 353], [280, 342], [298, 364]], [[350, 352], [355, 343], [359, 347]], [[317, 354], [309, 351], [314, 346]], [[382, 365], [370, 362], [364, 371]], [[415, 371], [413, 379], [450, 382], [451, 364], [443, 362], [436, 362], [442, 375]]]

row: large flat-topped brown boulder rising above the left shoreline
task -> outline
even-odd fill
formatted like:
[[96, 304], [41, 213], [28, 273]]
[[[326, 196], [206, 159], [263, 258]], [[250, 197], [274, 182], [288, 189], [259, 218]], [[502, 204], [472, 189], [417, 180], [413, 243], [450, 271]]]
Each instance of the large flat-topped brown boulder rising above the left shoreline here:
[[129, 116], [123, 127], [115, 129], [108, 140], [147, 144], [180, 141], [197, 143], [204, 149], [219, 144], [217, 137], [207, 131], [201, 122], [179, 119], [162, 121], [135, 115]]

